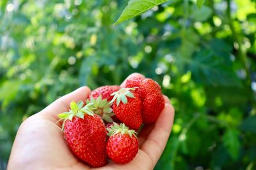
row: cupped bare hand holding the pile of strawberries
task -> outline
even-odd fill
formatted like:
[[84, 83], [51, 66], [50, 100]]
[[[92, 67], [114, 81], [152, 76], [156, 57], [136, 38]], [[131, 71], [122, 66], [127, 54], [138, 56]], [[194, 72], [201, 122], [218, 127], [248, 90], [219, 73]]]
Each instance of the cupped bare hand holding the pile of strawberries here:
[[[121, 86], [124, 84], [125, 81]], [[56, 124], [57, 115], [67, 111], [71, 101], [85, 101], [90, 92], [88, 87], [81, 87], [25, 120], [17, 132], [7, 169], [154, 169], [173, 124], [174, 110], [168, 97], [164, 96], [165, 106], [157, 122], [145, 125], [140, 132], [140, 150], [131, 162], [122, 165], [109, 162], [104, 167], [92, 168], [72, 154], [63, 138], [61, 124]]]

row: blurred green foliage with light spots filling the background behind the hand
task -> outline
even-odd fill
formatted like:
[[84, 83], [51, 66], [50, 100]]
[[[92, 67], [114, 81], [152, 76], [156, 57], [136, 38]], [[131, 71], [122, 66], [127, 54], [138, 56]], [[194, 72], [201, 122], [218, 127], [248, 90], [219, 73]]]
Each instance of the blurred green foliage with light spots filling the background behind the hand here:
[[158, 81], [175, 107], [156, 169], [256, 169], [255, 0], [0, 1], [0, 169], [22, 120], [77, 87]]

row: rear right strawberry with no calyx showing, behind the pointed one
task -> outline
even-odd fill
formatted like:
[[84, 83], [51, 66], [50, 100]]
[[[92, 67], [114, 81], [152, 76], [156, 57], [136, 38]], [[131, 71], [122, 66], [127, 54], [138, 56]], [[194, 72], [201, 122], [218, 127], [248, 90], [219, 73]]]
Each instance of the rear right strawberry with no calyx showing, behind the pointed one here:
[[129, 78], [125, 87], [138, 87], [142, 101], [143, 123], [156, 122], [164, 108], [164, 97], [159, 84], [150, 78]]

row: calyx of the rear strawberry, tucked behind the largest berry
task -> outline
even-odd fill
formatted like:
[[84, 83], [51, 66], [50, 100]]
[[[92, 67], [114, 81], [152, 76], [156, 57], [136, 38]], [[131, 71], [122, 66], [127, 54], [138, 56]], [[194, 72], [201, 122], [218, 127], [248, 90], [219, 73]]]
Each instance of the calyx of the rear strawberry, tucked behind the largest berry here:
[[95, 108], [93, 112], [99, 115], [103, 120], [109, 123], [113, 122], [111, 117], [113, 117], [115, 113], [113, 113], [111, 103], [109, 103], [107, 99], [102, 99], [101, 95], [97, 97], [97, 99], [91, 96], [90, 100], [86, 100], [86, 103], [92, 104], [92, 107]]

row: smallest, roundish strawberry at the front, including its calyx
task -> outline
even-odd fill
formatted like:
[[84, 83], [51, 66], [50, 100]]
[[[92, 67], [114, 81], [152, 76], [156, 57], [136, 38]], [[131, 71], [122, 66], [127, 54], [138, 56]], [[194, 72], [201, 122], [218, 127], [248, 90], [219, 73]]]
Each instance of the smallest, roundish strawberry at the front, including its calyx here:
[[125, 124], [116, 124], [108, 128], [108, 143], [106, 153], [109, 159], [118, 164], [130, 162], [139, 150], [139, 142], [134, 130], [129, 130]]

